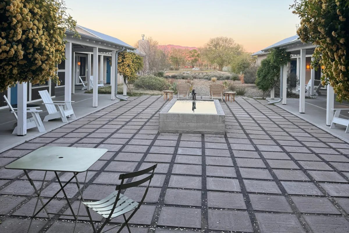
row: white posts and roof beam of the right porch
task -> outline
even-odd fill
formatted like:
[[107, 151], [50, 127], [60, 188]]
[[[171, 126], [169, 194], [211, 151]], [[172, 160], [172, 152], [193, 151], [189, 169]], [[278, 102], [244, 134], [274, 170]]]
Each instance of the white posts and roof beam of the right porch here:
[[[303, 43], [300, 39], [296, 41], [292, 41], [289, 43], [270, 46], [267, 49], [261, 50], [262, 52], [268, 52], [268, 50], [272, 48], [284, 49], [291, 53], [292, 58], [297, 59], [297, 69], [296, 74], [299, 77], [299, 113], [305, 113], [305, 72], [306, 72], [306, 57], [311, 57], [311, 60], [314, 60], [313, 53], [316, 45], [310, 43]], [[286, 104], [287, 102], [287, 68], [290, 67], [290, 64], [284, 65], [281, 67], [280, 72], [280, 81], [282, 81], [282, 104]], [[311, 87], [310, 87], [310, 95], [314, 95], [314, 80], [315, 80], [315, 70], [311, 69]], [[334, 116], [333, 108], [334, 108], [334, 91], [331, 85], [327, 85], [327, 104], [326, 104], [326, 125], [330, 126], [332, 123], [332, 119]], [[271, 98], [274, 99], [274, 90], [272, 90], [270, 94]]]

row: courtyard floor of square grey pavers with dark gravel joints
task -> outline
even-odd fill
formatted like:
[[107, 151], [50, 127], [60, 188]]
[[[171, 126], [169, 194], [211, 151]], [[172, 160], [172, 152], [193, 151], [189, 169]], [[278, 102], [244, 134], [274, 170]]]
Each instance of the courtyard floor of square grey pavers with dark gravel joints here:
[[[134, 233], [349, 232], [349, 144], [267, 101], [235, 100], [221, 103], [225, 136], [158, 133], [167, 102], [131, 97], [1, 153], [0, 166], [45, 145], [107, 148], [84, 191], [85, 199], [97, 200], [114, 190], [118, 174], [157, 162], [146, 203], [131, 220]], [[43, 172], [29, 175], [37, 186], [43, 179]], [[58, 190], [48, 175], [43, 196]], [[22, 171], [0, 168], [0, 177], [0, 232], [27, 232], [34, 190]], [[77, 209], [76, 186], [66, 190]], [[126, 195], [140, 201], [143, 190]], [[49, 209], [69, 212], [64, 200]], [[72, 232], [67, 219], [36, 218], [30, 232]], [[75, 232], [92, 232], [82, 220]]]

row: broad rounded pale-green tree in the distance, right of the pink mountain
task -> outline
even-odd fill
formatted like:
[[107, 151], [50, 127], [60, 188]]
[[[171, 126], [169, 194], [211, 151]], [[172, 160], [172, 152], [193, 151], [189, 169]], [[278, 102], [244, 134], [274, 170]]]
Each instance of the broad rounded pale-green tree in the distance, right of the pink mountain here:
[[216, 63], [218, 69], [222, 70], [223, 66], [229, 65], [234, 56], [243, 52], [243, 47], [230, 37], [215, 37], [210, 39], [205, 45], [205, 56], [211, 63]]

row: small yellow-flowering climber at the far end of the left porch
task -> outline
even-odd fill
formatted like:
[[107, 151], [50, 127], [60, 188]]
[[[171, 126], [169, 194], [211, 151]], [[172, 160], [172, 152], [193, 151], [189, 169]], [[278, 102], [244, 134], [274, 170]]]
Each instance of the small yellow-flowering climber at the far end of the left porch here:
[[128, 90], [131, 92], [130, 83], [138, 78], [138, 72], [143, 68], [143, 58], [134, 52], [123, 51], [118, 54], [118, 72], [124, 77]]

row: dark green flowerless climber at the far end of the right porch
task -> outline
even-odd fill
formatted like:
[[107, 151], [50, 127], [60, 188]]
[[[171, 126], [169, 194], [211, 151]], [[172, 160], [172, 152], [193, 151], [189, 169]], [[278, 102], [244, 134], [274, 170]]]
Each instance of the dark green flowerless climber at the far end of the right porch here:
[[269, 51], [257, 69], [256, 86], [263, 91], [263, 98], [279, 81], [280, 67], [291, 61], [290, 53], [280, 49]]

